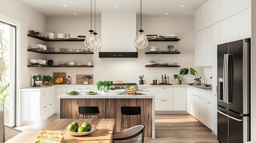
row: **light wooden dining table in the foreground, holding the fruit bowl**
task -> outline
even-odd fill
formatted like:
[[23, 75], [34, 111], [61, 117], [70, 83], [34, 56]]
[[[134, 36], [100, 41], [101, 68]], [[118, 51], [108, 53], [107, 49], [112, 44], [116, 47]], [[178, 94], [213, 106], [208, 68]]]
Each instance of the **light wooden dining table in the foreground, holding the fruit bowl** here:
[[[65, 132], [67, 126], [72, 122], [78, 122], [81, 126], [82, 123], [88, 122], [94, 128], [94, 132], [85, 136], [70, 136]], [[39, 135], [39, 130], [60, 130], [63, 131], [64, 143], [108, 143], [112, 142], [112, 133], [114, 132], [115, 119], [45, 119], [41, 122], [32, 125], [29, 129], [19, 133], [14, 138], [11, 138], [7, 143], [26, 142], [34, 143], [36, 136]]]

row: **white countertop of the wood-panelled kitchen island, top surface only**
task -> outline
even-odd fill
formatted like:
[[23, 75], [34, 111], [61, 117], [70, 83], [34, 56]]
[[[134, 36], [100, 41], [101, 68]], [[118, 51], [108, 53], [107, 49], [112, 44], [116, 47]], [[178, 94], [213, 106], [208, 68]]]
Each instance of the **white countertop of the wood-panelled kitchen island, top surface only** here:
[[144, 93], [144, 95], [131, 95], [127, 94], [125, 92], [124, 94], [113, 94], [110, 92], [98, 92], [98, 94], [95, 95], [87, 95], [87, 94], [81, 94], [81, 95], [68, 95], [68, 94], [61, 94], [58, 95], [57, 98], [152, 98], [155, 99], [155, 96], [150, 93], [149, 91], [138, 91], [141, 93]]

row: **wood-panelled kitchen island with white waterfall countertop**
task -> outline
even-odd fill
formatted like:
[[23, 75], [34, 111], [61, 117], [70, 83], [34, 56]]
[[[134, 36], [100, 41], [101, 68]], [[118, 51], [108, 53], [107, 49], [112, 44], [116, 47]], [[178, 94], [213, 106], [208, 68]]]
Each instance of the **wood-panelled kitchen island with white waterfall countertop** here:
[[[97, 95], [67, 95], [61, 94], [60, 99], [60, 118], [78, 118], [79, 106], [97, 106], [100, 110], [101, 119], [116, 119], [115, 132], [121, 130], [121, 107], [140, 106], [141, 121], [145, 125], [145, 136], [155, 138], [155, 96], [149, 91], [140, 91], [144, 95], [112, 94], [110, 92], [99, 92]], [[81, 116], [82, 117], [82, 116]], [[91, 117], [91, 116], [89, 116]], [[97, 117], [97, 116], [95, 116]], [[124, 117], [124, 126], [135, 126], [138, 123], [138, 116]]]

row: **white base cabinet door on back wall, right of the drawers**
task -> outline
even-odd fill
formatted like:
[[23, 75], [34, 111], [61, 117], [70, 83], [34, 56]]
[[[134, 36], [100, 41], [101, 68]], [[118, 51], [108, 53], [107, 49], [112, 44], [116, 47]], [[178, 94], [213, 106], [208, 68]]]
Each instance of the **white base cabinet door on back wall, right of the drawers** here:
[[173, 88], [173, 110], [174, 111], [186, 111], [186, 88], [174, 87]]

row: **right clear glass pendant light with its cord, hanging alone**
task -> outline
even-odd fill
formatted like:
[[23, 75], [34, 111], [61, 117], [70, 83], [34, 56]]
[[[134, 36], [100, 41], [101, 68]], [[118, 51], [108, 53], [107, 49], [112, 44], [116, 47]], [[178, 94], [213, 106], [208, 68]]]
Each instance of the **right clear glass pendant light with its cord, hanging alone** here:
[[146, 36], [144, 36], [144, 33], [143, 33], [144, 31], [141, 29], [141, 24], [142, 24], [141, 11], [142, 11], [142, 2], [140, 0], [140, 30], [138, 30], [138, 35], [134, 40], [134, 46], [137, 49], [144, 49], [149, 44], [149, 41], [147, 41]]

